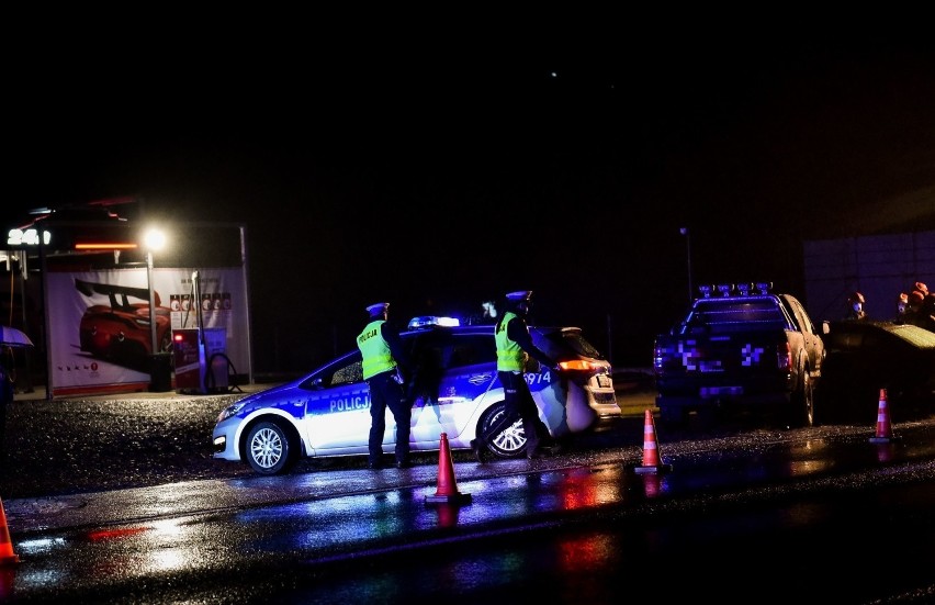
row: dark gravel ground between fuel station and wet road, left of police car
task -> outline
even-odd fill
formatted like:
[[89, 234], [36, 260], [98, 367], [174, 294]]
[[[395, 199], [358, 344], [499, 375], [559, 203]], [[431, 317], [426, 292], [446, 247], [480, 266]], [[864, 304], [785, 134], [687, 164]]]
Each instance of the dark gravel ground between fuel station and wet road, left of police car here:
[[215, 460], [218, 413], [248, 394], [129, 393], [85, 399], [18, 399], [7, 404], [0, 498], [143, 488], [250, 474]]

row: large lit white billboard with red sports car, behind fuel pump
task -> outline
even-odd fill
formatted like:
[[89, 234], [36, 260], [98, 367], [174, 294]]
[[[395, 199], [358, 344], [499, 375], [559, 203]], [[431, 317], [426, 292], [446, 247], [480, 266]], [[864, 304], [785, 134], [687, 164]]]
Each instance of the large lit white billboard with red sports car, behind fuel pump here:
[[[49, 270], [52, 395], [147, 390], [151, 322], [147, 269]], [[154, 268], [156, 352], [173, 329], [225, 328], [234, 373], [250, 374], [247, 288], [240, 268]]]

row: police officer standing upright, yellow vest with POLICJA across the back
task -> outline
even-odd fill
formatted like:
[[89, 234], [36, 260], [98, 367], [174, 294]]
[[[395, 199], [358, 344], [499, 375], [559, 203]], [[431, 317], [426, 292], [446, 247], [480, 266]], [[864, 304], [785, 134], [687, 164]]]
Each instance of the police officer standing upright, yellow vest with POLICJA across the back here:
[[370, 322], [357, 337], [357, 346], [363, 358], [363, 379], [370, 386], [370, 468], [383, 468], [383, 433], [386, 430], [388, 407], [396, 419], [396, 468], [407, 469], [410, 466], [409, 423], [413, 411], [405, 396], [401, 373], [401, 369], [408, 368], [406, 352], [399, 333], [386, 323], [390, 303], [372, 304], [367, 312]]

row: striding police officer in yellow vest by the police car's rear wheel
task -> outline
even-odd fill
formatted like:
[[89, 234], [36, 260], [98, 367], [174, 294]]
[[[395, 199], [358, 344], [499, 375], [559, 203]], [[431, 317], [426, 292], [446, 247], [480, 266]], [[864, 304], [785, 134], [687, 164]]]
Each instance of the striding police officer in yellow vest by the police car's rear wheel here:
[[496, 437], [517, 419], [522, 419], [527, 458], [541, 457], [540, 442], [549, 437], [540, 433], [544, 425], [539, 419], [539, 408], [523, 376], [530, 356], [547, 368], [557, 371], [555, 362], [532, 344], [532, 337], [529, 335], [526, 317], [532, 304], [531, 298], [532, 292], [528, 290], [507, 294], [506, 313], [497, 323], [494, 333], [497, 345], [497, 377], [504, 388], [506, 408], [486, 435], [477, 435], [477, 438], [471, 441], [471, 449], [474, 450], [478, 462], [486, 461], [487, 438]]

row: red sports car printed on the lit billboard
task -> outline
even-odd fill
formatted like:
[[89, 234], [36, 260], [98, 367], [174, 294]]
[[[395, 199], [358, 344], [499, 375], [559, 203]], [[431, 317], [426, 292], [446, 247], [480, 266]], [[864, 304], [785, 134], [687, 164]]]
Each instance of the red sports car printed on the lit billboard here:
[[[108, 283], [93, 283], [76, 279], [75, 288], [86, 296], [101, 294], [110, 304], [92, 304], [85, 311], [79, 328], [81, 350], [125, 366], [145, 369], [148, 367], [150, 347], [149, 291], [146, 288], [129, 288]], [[145, 302], [131, 302], [131, 299]], [[169, 309], [156, 302], [156, 341], [158, 352], [171, 352], [172, 329]]]

